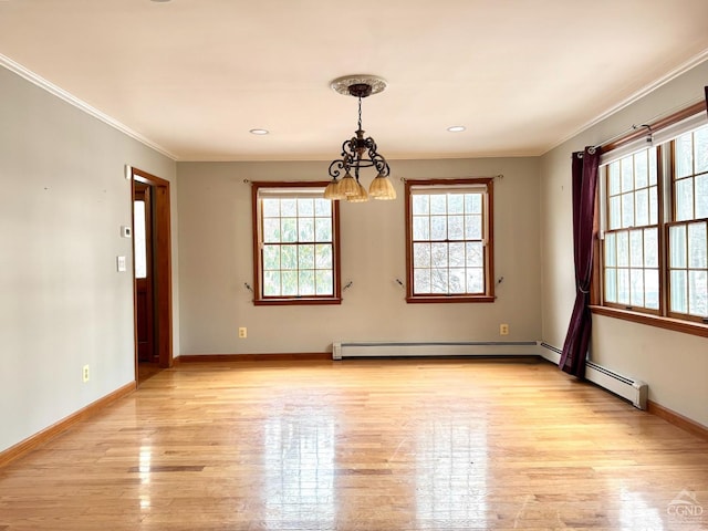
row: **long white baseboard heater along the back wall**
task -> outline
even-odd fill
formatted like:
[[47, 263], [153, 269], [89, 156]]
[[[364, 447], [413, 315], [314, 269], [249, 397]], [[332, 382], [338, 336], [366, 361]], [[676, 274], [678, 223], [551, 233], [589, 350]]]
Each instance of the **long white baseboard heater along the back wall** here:
[[332, 345], [332, 358], [412, 356], [538, 356], [535, 341], [347, 341]]

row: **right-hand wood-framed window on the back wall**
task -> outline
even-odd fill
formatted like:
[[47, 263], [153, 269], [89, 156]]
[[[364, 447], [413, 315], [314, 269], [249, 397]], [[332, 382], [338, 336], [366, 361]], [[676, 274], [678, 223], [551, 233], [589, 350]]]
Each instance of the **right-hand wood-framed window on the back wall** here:
[[406, 183], [408, 302], [493, 302], [492, 179]]

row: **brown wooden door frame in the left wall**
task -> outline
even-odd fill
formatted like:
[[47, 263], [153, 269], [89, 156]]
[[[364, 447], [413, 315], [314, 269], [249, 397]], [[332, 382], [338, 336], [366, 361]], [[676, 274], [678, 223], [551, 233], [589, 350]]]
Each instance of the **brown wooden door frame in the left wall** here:
[[[154, 341], [158, 364], [162, 368], [173, 366], [173, 253], [170, 231], [169, 181], [137, 168], [131, 168], [131, 212], [135, 183], [150, 187], [153, 196], [153, 290], [154, 290]], [[133, 214], [131, 216], [133, 223]], [[133, 268], [135, 270], [135, 267]], [[133, 332], [135, 343], [135, 378], [138, 375], [137, 356], [137, 296], [135, 271], [133, 272]]]

